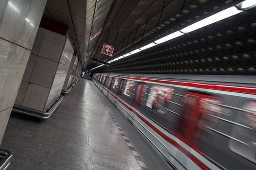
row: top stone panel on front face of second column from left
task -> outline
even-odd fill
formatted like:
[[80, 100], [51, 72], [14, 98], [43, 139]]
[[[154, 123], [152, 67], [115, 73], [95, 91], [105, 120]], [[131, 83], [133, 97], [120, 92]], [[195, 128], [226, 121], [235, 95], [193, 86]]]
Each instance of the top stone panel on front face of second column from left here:
[[45, 30], [38, 55], [59, 62], [65, 41], [66, 36]]

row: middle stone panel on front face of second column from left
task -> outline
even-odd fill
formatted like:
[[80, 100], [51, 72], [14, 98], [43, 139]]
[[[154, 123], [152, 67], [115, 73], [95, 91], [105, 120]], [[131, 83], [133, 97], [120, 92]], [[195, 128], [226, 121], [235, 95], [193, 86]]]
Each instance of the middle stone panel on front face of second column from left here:
[[51, 88], [57, 68], [57, 62], [37, 56], [30, 82]]

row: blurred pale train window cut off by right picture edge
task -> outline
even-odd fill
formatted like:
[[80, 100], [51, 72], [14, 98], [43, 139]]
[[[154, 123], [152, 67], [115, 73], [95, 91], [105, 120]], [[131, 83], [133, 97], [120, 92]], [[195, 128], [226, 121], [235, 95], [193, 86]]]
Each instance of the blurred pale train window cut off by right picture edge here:
[[229, 148], [256, 163], [256, 101], [246, 102], [243, 109], [233, 125]]

